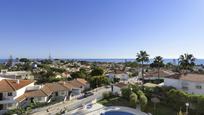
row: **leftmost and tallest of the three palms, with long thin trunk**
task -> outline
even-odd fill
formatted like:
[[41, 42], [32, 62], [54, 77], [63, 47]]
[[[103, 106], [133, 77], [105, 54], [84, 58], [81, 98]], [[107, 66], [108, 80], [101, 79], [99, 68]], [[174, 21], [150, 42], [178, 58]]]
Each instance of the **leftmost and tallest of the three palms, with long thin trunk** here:
[[141, 68], [142, 68], [142, 81], [144, 83], [144, 63], [145, 62], [149, 62], [149, 54], [147, 54], [146, 51], [140, 51], [139, 53], [137, 53], [136, 56], [136, 61], [139, 62], [141, 64]]

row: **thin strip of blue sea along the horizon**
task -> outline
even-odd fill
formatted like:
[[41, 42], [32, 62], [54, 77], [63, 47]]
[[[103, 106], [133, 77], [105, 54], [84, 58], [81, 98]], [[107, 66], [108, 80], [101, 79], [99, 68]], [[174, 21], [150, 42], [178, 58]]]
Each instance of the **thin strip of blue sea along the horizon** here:
[[[87, 61], [87, 62], [107, 62], [107, 63], [125, 63], [133, 62], [135, 59], [63, 59], [63, 60], [77, 60], [77, 61]], [[0, 59], [0, 63], [7, 62], [7, 59]], [[15, 62], [15, 60], [14, 60]], [[152, 63], [153, 59], [150, 59], [148, 63]], [[164, 59], [164, 63], [178, 64], [178, 59]], [[197, 65], [204, 65], [204, 59], [196, 59], [195, 63]]]

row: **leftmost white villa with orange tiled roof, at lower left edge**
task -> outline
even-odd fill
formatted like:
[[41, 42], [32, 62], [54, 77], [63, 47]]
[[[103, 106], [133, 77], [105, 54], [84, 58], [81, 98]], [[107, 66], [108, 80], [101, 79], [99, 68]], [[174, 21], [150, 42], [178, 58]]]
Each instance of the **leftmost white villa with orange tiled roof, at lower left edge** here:
[[34, 81], [3, 79], [0, 84], [0, 114], [2, 114], [19, 105], [19, 97], [25, 93], [27, 87], [34, 86]]

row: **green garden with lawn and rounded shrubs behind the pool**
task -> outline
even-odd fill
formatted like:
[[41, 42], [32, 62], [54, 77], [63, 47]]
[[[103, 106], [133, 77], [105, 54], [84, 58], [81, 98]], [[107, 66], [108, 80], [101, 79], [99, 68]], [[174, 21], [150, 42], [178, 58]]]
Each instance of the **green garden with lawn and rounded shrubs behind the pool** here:
[[[189, 115], [204, 115], [204, 96], [187, 94], [173, 87], [142, 88], [129, 85], [123, 88], [122, 96], [105, 93], [99, 103], [105, 106], [126, 106], [136, 108], [153, 115], [185, 115], [186, 103], [189, 103]], [[157, 99], [154, 102], [152, 99]]]

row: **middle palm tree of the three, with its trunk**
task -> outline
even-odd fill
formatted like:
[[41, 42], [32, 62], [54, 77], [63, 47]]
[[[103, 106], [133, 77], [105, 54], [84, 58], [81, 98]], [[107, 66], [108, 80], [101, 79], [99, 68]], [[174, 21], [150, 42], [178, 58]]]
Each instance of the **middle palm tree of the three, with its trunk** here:
[[157, 71], [158, 71], [158, 79], [160, 77], [160, 68], [161, 67], [164, 67], [164, 61], [163, 61], [163, 58], [161, 56], [156, 56], [154, 58], [154, 61], [152, 64], [150, 64], [150, 67], [152, 68], [157, 68]]

